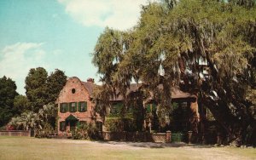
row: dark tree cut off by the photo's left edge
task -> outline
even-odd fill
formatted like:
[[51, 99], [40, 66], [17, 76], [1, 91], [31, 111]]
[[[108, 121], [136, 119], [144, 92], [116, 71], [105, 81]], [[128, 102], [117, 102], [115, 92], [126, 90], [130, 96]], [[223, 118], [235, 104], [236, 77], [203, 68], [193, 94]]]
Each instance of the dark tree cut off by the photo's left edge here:
[[0, 126], [8, 123], [15, 114], [14, 99], [18, 95], [15, 82], [3, 76], [0, 78]]

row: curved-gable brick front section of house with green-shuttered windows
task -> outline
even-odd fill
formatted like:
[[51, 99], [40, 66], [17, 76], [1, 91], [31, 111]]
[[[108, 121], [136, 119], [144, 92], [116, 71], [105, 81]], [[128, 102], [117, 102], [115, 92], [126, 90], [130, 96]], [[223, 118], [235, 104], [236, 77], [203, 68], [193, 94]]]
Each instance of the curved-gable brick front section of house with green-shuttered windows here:
[[[61, 89], [55, 103], [58, 106], [58, 134], [76, 129], [79, 123], [90, 123], [95, 117], [91, 94], [94, 80], [82, 82], [78, 77], [70, 77]], [[96, 118], [101, 122], [101, 118]]]

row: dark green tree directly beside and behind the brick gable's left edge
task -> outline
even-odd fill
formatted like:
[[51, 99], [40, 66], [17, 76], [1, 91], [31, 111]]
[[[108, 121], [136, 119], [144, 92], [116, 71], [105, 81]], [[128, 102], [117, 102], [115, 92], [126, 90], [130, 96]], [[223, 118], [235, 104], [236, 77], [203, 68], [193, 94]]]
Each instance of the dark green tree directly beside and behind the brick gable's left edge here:
[[54, 72], [50, 73], [46, 82], [48, 94], [48, 100], [46, 104], [55, 102], [66, 82], [67, 76], [65, 75], [64, 71], [55, 69]]

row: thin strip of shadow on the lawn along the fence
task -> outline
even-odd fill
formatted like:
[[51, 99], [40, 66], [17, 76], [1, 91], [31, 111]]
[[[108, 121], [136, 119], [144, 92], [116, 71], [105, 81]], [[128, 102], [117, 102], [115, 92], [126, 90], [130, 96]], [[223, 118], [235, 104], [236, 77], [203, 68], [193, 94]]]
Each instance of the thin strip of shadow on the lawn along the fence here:
[[186, 144], [186, 143], [153, 143], [153, 142], [125, 142], [125, 141], [97, 141], [102, 144], [110, 144], [110, 145], [127, 145], [127, 146], [135, 146], [135, 147], [143, 147], [143, 148], [178, 148], [189, 146], [192, 148], [212, 148], [214, 146], [207, 145], [197, 145], [197, 144]]

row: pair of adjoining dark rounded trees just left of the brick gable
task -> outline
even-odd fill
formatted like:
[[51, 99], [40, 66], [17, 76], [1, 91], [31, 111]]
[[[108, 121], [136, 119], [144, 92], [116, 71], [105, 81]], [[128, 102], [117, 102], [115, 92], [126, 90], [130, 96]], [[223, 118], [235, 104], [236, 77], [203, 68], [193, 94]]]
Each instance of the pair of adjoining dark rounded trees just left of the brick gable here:
[[67, 76], [56, 69], [49, 76], [43, 67], [32, 68], [26, 77], [26, 97], [32, 111], [38, 112], [44, 105], [54, 103], [67, 81]]

